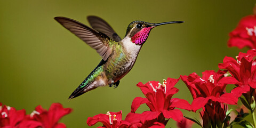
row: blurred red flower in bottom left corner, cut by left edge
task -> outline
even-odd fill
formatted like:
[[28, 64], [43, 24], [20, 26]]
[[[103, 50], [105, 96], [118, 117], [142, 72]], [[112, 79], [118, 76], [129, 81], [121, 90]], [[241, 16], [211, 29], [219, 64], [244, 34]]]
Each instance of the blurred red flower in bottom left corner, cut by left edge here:
[[13, 107], [2, 106], [0, 103], [0, 127], [19, 127], [26, 115], [25, 109], [16, 110]]

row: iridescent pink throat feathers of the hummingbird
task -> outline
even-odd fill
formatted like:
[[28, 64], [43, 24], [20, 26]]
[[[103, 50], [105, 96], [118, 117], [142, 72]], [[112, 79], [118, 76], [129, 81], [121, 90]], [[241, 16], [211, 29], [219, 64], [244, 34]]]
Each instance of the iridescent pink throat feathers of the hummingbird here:
[[142, 44], [146, 42], [151, 27], [141, 29], [137, 34], [132, 37], [132, 43]]

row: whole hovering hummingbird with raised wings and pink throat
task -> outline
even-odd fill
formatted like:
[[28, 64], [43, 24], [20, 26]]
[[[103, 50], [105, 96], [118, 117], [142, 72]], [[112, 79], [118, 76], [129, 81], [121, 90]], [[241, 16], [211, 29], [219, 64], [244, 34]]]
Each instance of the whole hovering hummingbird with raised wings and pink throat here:
[[55, 17], [54, 19], [95, 49], [102, 57], [99, 65], [84, 79], [69, 99], [76, 98], [99, 86], [109, 85], [109, 87], [112, 87], [114, 85], [114, 88], [116, 88], [120, 79], [129, 73], [134, 66], [151, 29], [169, 23], [183, 22], [149, 23], [133, 21], [127, 27], [124, 38], [121, 39], [105, 20], [96, 16], [87, 17], [92, 28], [65, 17]]

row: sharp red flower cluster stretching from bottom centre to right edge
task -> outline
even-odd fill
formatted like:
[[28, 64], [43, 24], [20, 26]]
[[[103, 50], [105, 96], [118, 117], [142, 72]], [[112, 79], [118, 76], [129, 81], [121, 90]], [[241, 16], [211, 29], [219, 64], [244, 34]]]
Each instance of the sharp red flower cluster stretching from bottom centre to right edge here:
[[[244, 109], [234, 110], [236, 116], [231, 113], [227, 105], [236, 105], [238, 98], [241, 99], [245, 107], [253, 113], [255, 109], [255, 88], [256, 88], [256, 50], [249, 50], [247, 53], [239, 53], [237, 60], [225, 57], [223, 63], [219, 64], [217, 72], [206, 70], [202, 77], [196, 73], [189, 76], [180, 76], [187, 85], [193, 102], [172, 98], [179, 90], [174, 85], [178, 79], [168, 78], [161, 84], [150, 81], [146, 84], [138, 83], [142, 93], [146, 98], [134, 98], [131, 106], [131, 113], [122, 120], [122, 111], [118, 113], [108, 112], [99, 114], [87, 119], [87, 124], [92, 126], [98, 122], [102, 127], [165, 127], [170, 118], [177, 121], [178, 127], [191, 127], [197, 123], [201, 127], [232, 127], [239, 124], [242, 126], [252, 126], [250, 122], [244, 120], [249, 115], [244, 113]], [[229, 72], [228, 72], [229, 71]], [[236, 85], [230, 92], [226, 91], [228, 84]], [[241, 98], [244, 95], [245, 100]], [[146, 103], [150, 110], [141, 114], [135, 113], [141, 104]], [[180, 109], [197, 111], [202, 108], [199, 114], [202, 117], [202, 124], [196, 119], [183, 117]], [[235, 118], [231, 120], [231, 117]]]

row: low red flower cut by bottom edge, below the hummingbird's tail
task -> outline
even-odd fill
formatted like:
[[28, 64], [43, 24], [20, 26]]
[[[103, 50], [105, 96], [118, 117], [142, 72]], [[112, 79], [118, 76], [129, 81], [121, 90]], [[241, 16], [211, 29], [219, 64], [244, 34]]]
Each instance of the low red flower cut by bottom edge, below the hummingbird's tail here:
[[92, 126], [98, 122], [101, 122], [103, 124], [103, 126], [101, 127], [117, 128], [119, 127], [121, 121], [122, 121], [122, 111], [119, 111], [117, 113], [108, 111], [107, 114], [99, 114], [93, 117], [88, 117], [87, 124], [89, 126]]

